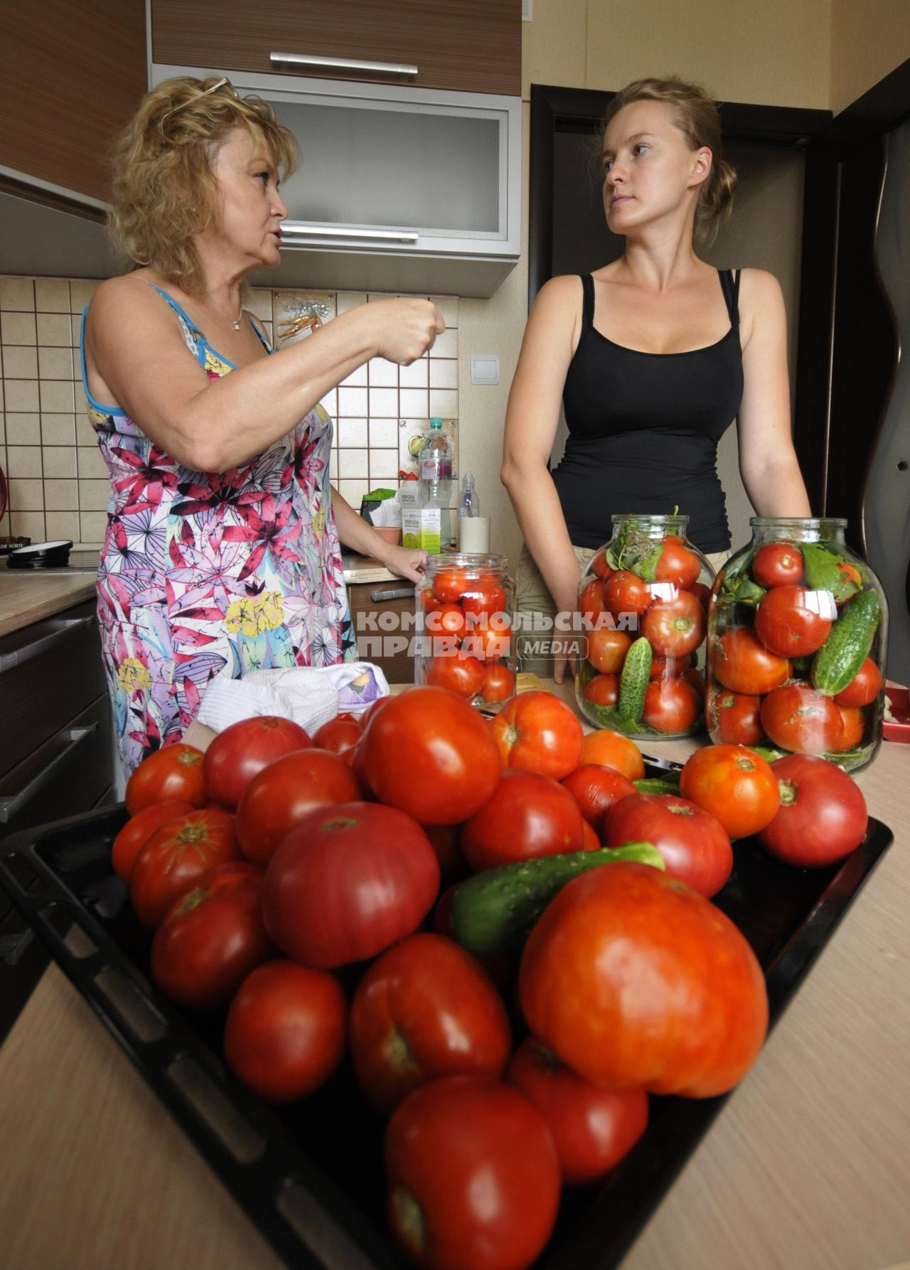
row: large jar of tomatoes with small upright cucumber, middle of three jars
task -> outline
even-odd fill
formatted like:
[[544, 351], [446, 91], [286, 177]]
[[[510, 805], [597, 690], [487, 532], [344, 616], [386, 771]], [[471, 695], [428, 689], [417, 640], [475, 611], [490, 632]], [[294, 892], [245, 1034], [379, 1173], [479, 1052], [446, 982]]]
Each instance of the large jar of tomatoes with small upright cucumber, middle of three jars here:
[[[688, 516], [614, 516], [579, 583], [579, 709], [628, 737], [689, 737], [703, 725], [699, 669], [713, 570]], [[584, 653], [584, 660], [580, 660]]]

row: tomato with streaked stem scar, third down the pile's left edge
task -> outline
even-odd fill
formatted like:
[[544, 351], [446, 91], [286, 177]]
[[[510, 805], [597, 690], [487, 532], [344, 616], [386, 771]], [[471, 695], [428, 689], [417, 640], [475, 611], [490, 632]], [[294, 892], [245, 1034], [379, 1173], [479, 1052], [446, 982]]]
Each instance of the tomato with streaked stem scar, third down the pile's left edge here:
[[237, 860], [234, 817], [218, 808], [189, 812], [156, 829], [140, 847], [129, 874], [129, 899], [150, 931], [213, 865]]

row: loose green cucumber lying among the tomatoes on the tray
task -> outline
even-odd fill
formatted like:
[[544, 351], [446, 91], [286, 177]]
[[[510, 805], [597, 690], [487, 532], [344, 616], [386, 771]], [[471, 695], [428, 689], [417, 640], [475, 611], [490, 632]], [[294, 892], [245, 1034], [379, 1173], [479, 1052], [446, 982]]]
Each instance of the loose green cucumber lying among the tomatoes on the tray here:
[[560, 856], [537, 856], [500, 869], [487, 869], [459, 884], [452, 898], [452, 932], [471, 952], [504, 952], [520, 947], [553, 895], [567, 881], [617, 860], [664, 867], [650, 842], [627, 842], [624, 847], [571, 851]]

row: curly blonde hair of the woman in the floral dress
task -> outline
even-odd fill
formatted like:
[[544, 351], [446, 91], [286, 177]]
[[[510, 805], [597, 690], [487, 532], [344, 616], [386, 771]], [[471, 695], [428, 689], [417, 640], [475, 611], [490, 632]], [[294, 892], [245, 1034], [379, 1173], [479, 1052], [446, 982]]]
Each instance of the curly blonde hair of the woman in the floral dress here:
[[255, 97], [237, 97], [227, 80], [170, 79], [143, 97], [112, 152], [108, 230], [133, 267], [151, 265], [189, 295], [206, 279], [193, 235], [217, 227], [212, 155], [231, 128], [265, 144], [282, 174], [300, 164], [293, 133]]

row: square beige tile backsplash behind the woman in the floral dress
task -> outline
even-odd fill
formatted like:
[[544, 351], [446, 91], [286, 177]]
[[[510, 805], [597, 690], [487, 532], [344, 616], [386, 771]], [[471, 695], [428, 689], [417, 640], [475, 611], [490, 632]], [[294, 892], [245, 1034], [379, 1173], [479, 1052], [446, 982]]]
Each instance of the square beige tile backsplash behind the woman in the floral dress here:
[[[108, 471], [88, 419], [79, 366], [81, 311], [96, 286], [75, 278], [0, 277], [0, 466], [9, 486], [0, 535], [102, 542]], [[280, 347], [310, 338], [311, 314], [331, 321], [385, 298], [260, 287], [246, 304]], [[428, 357], [411, 366], [376, 358], [322, 399], [335, 423], [333, 484], [354, 507], [368, 489], [393, 485], [401, 469], [414, 466], [407, 444], [429, 417], [451, 420], [447, 429], [457, 433], [458, 300], [430, 298], [447, 329]]]

